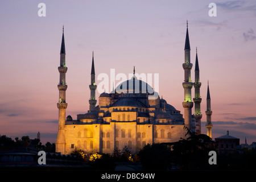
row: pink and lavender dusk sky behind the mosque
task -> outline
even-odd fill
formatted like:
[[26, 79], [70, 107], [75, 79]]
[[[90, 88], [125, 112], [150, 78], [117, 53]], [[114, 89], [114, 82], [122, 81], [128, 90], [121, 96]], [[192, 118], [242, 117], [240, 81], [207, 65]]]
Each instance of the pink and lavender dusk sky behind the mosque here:
[[[45, 17], [38, 16], [41, 2]], [[256, 142], [256, 2], [214, 1], [217, 16], [210, 17], [211, 2], [0, 1], [0, 135], [34, 139], [39, 131], [43, 144], [56, 141], [63, 24], [67, 115], [89, 109], [92, 51], [96, 85], [98, 74], [128, 76], [135, 65], [139, 74], [159, 73], [159, 95], [183, 114], [188, 20], [192, 81], [197, 47], [202, 82], [202, 133], [209, 80], [213, 138], [229, 130], [240, 143]]]

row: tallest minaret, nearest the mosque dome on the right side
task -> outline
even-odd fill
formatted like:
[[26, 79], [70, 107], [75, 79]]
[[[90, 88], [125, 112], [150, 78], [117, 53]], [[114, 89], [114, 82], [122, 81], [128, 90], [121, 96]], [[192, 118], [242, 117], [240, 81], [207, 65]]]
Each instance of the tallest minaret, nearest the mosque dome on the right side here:
[[182, 64], [185, 75], [184, 75], [184, 82], [182, 83], [184, 88], [184, 102], [182, 105], [184, 107], [184, 125], [188, 127], [189, 130], [192, 131], [192, 107], [193, 102], [191, 100], [191, 89], [193, 87], [193, 83], [191, 82], [191, 69], [193, 64], [190, 63], [190, 44], [189, 44], [189, 37], [188, 37], [188, 21], [187, 21], [187, 34], [185, 39], [185, 63]]

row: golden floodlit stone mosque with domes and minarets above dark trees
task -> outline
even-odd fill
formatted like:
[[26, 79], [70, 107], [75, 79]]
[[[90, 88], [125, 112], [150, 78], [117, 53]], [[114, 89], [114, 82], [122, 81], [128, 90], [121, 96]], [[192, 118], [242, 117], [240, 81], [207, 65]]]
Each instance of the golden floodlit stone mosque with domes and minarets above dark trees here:
[[[186, 43], [188, 42], [188, 31]], [[63, 33], [64, 43], [64, 33]], [[65, 46], [61, 43], [61, 49]], [[189, 43], [189, 42], [188, 42]], [[94, 57], [92, 61], [89, 107], [85, 114], [77, 114], [76, 119], [71, 115], [65, 118], [67, 103], [65, 102], [65, 50], [61, 52], [60, 86], [58, 85], [60, 98], [59, 130], [56, 140], [56, 152], [70, 154], [75, 148], [81, 148], [88, 152], [102, 152], [113, 154], [114, 148], [122, 150], [127, 146], [136, 154], [147, 143], [176, 142], [180, 138], [187, 138], [188, 126], [196, 133], [196, 119], [191, 114], [193, 102], [191, 98], [191, 68], [190, 47], [185, 45], [185, 72], [184, 118], [179, 110], [160, 98], [150, 85], [134, 76], [122, 82], [111, 93], [101, 93], [95, 98], [97, 85], [95, 83]], [[64, 65], [63, 65], [64, 64]], [[63, 68], [62, 68], [63, 67]], [[198, 78], [199, 81], [199, 78]], [[201, 83], [200, 83], [201, 84]], [[127, 89], [125, 89], [127, 88]], [[197, 87], [199, 90], [200, 86]], [[200, 94], [196, 96], [197, 100]], [[197, 107], [200, 108], [200, 102]], [[200, 114], [200, 113], [198, 113]], [[197, 126], [197, 133], [201, 133], [201, 126]]]

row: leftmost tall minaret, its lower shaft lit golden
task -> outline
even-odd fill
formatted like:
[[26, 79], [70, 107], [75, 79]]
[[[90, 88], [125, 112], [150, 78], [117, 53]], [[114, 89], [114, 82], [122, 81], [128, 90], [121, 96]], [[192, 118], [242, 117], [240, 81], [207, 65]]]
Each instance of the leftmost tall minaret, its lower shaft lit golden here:
[[66, 118], [66, 109], [68, 104], [66, 103], [66, 90], [68, 85], [66, 84], [65, 75], [67, 73], [68, 68], [65, 66], [65, 42], [64, 42], [64, 26], [61, 40], [61, 48], [60, 48], [60, 67], [58, 67], [60, 73], [60, 83], [57, 85], [59, 89], [59, 102], [57, 103], [57, 107], [59, 109], [59, 128], [58, 135], [56, 140], [56, 152], [61, 152], [61, 154], [65, 154], [65, 118]]

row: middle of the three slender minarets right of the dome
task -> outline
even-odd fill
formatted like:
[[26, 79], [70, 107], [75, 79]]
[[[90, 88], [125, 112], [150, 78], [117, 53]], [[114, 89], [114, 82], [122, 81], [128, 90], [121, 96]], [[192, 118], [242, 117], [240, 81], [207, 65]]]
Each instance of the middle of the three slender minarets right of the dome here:
[[195, 103], [195, 119], [198, 121], [198, 125], [196, 125], [196, 134], [201, 134], [201, 101], [202, 98], [200, 96], [200, 77], [199, 77], [199, 64], [198, 64], [198, 58], [197, 58], [197, 48], [196, 48], [196, 64], [195, 64], [195, 82], [193, 83], [195, 88], [195, 98], [193, 98], [193, 101]]

